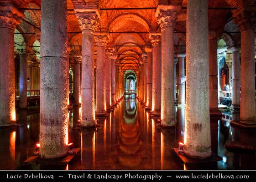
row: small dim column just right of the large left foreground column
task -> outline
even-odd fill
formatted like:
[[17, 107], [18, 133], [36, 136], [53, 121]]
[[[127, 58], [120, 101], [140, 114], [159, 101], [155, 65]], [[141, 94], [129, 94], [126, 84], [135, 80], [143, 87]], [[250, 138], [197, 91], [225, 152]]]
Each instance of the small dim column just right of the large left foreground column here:
[[82, 56], [73, 56], [74, 60], [74, 105], [79, 106], [81, 104], [81, 63]]

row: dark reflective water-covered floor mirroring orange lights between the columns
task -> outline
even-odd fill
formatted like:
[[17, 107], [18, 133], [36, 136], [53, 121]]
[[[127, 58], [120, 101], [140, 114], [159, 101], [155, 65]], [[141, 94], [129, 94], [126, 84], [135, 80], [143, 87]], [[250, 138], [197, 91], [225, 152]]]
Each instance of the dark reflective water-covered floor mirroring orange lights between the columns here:
[[159, 118], [150, 118], [135, 96], [125, 96], [108, 117], [98, 117], [100, 127], [96, 130], [78, 128], [80, 114], [79, 106], [68, 112], [68, 140], [81, 149], [72, 162], [65, 166], [24, 166], [39, 142], [39, 106], [17, 111], [20, 126], [0, 129], [0, 169], [256, 169], [255, 153], [225, 149], [232, 141], [256, 148], [255, 130], [230, 126], [239, 112], [227, 109], [221, 118], [211, 118], [212, 152], [223, 160], [200, 165], [184, 165], [173, 151], [183, 141], [184, 107], [176, 107], [177, 126], [171, 129], [158, 129]]

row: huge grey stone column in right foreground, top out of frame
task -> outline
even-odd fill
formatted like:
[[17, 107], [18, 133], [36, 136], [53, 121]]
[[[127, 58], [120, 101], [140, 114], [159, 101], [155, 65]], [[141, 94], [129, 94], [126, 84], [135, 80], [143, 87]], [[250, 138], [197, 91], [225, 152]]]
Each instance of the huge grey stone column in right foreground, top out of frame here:
[[211, 157], [207, 0], [188, 0], [186, 52], [184, 152], [207, 158]]

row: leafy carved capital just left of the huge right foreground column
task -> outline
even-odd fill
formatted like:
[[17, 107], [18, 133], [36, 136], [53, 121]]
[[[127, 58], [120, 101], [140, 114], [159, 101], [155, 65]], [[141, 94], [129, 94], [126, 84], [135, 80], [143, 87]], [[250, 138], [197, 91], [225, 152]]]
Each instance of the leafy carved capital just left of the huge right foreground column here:
[[180, 10], [181, 5], [158, 5], [155, 14], [157, 23], [161, 28], [173, 26]]

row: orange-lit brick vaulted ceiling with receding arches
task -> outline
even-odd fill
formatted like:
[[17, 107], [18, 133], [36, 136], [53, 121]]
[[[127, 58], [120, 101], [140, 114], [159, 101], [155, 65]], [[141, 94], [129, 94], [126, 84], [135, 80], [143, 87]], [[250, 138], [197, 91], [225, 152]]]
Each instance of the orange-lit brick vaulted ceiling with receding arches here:
[[[8, 1], [8, 0], [6, 0]], [[24, 37], [26, 45], [33, 45], [35, 40], [40, 41], [41, 0], [9, 0], [20, 9], [25, 18], [17, 30]], [[209, 0], [209, 7], [240, 8], [241, 6], [255, 5], [256, 0]], [[96, 31], [110, 32], [108, 46], [114, 46], [118, 53], [118, 59], [122, 66], [136, 65], [124, 69], [138, 69], [141, 54], [145, 53], [144, 47], [117, 47], [115, 45], [146, 45], [150, 42], [148, 32], [160, 32], [155, 17], [155, 9], [158, 4], [187, 6], [187, 0], [68, 0], [68, 41], [73, 45], [73, 52], [81, 51], [81, 29], [75, 15], [75, 8], [98, 8], [101, 15], [99, 26]], [[25, 8], [25, 9], [24, 9]], [[118, 9], [116, 9], [118, 8]], [[126, 8], [126, 10], [120, 10]], [[127, 8], [150, 8], [133, 9]], [[28, 10], [30, 9], [30, 10]], [[115, 9], [115, 10], [113, 10]], [[209, 30], [224, 30], [224, 37], [239, 40], [239, 34], [225, 33], [238, 31], [237, 25], [232, 20], [235, 10], [211, 10], [209, 9]], [[112, 32], [112, 33], [111, 33]], [[146, 32], [146, 33], [113, 33], [113, 32]], [[183, 8], [176, 20], [174, 27], [174, 44], [186, 45], [186, 9]], [[20, 42], [19, 42], [20, 43]], [[96, 59], [96, 47], [94, 47], [94, 59]], [[183, 52], [185, 46], [176, 46], [176, 52]], [[120, 55], [122, 54], [122, 55]], [[131, 61], [129, 61], [129, 59]], [[72, 59], [71, 59], [72, 60]]]

